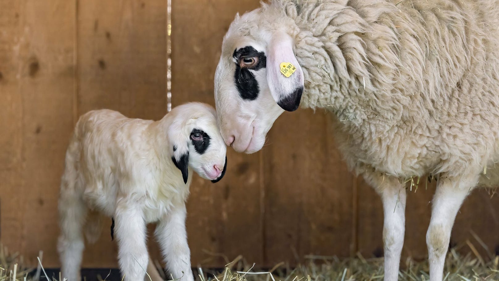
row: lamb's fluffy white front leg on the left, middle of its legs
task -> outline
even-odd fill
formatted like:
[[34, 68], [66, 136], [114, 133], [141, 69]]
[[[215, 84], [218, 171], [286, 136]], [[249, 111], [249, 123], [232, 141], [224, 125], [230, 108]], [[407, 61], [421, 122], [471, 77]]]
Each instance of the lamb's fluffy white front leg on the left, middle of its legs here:
[[149, 255], [141, 207], [137, 202], [121, 201], [114, 219], [121, 273], [126, 281], [144, 280]]

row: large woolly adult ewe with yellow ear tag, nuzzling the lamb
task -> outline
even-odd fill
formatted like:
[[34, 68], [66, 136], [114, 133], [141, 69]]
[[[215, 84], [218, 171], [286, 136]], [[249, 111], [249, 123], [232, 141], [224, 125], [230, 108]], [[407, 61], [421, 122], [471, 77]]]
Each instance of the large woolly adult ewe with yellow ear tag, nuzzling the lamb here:
[[349, 167], [383, 201], [385, 280], [398, 275], [403, 179], [439, 174], [426, 240], [431, 280], [442, 280], [463, 200], [499, 183], [498, 26], [498, 0], [262, 3], [224, 37], [215, 74], [222, 135], [252, 153], [284, 110], [331, 111]]

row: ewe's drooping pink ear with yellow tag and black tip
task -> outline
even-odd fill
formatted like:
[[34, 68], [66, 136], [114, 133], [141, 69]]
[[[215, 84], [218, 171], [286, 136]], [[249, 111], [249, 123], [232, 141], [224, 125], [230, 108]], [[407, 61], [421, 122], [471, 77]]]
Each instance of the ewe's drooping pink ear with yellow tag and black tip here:
[[293, 40], [285, 33], [273, 36], [267, 47], [267, 83], [275, 102], [294, 111], [303, 93], [303, 71], [293, 52]]

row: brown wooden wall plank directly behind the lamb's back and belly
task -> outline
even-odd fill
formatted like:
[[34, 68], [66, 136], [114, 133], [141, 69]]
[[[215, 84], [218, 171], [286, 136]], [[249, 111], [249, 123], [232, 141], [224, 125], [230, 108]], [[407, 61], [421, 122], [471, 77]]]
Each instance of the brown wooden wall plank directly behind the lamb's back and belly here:
[[[144, 119], [167, 113], [166, 16], [165, 0], [79, 1], [78, 115], [99, 108]], [[117, 266], [110, 223], [105, 219], [99, 241], [87, 245], [83, 266]], [[161, 259], [152, 235], [148, 245]]]

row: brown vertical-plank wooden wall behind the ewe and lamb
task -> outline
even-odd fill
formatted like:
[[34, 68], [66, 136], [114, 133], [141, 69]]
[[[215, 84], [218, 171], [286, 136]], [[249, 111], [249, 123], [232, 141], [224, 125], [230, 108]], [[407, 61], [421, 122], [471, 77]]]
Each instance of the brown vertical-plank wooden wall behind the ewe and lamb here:
[[[173, 0], [173, 106], [214, 104], [222, 37], [236, 12], [258, 0]], [[130, 117], [166, 113], [166, 0], [0, 1], [0, 239], [35, 264], [57, 267], [56, 200], [64, 151], [78, 116], [95, 108]], [[292, 137], [290, 137], [292, 136]], [[378, 195], [348, 172], [321, 110], [284, 113], [254, 154], [228, 149], [217, 184], [191, 185], [187, 227], [193, 265], [237, 255], [272, 266], [306, 254], [382, 254]], [[404, 254], [426, 255], [434, 185], [410, 193]], [[475, 191], [458, 215], [453, 243], [499, 248], [499, 198]], [[88, 245], [86, 267], [115, 267], [109, 221]], [[153, 226], [151, 226], [152, 228]], [[150, 248], [158, 257], [156, 244]], [[468, 250], [463, 248], [463, 250]]]

